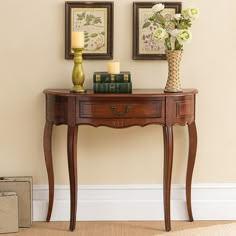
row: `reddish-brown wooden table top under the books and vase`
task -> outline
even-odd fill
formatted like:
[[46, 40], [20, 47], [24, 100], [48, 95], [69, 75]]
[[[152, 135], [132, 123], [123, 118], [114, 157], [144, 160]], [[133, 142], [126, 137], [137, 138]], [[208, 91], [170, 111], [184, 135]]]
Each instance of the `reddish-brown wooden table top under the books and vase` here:
[[180, 93], [165, 93], [163, 89], [133, 89], [132, 93], [94, 93], [92, 89], [88, 89], [86, 93], [74, 93], [69, 89], [45, 89], [44, 94], [58, 96], [92, 96], [92, 97], [135, 97], [140, 95], [146, 96], [185, 96], [188, 94], [198, 93], [197, 89], [183, 89]]

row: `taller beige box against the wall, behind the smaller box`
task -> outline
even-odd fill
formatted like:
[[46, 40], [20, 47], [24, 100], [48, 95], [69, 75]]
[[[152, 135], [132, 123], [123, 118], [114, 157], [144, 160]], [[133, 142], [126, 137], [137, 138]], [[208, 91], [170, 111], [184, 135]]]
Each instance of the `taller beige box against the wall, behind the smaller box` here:
[[19, 227], [32, 225], [32, 177], [0, 177], [0, 192], [16, 192]]

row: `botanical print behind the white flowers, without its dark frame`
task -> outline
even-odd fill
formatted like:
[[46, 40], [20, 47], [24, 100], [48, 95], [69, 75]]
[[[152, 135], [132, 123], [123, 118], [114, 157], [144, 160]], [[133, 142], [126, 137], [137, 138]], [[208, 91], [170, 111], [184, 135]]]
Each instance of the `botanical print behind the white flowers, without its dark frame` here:
[[[175, 9], [166, 8], [163, 12], [165, 17], [175, 14]], [[139, 53], [140, 54], [165, 54], [165, 45], [163, 42], [157, 42], [152, 33], [156, 30], [148, 18], [153, 15], [151, 8], [139, 9]]]

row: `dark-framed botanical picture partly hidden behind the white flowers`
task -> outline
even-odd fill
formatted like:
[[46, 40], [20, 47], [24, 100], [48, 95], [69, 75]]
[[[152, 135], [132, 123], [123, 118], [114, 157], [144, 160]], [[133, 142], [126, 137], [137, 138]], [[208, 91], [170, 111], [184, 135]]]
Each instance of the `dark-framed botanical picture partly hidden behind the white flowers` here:
[[[181, 2], [161, 2], [166, 13], [180, 13]], [[153, 14], [157, 2], [133, 2], [133, 60], [166, 60], [164, 43], [154, 41], [151, 26], [144, 27], [145, 21]]]

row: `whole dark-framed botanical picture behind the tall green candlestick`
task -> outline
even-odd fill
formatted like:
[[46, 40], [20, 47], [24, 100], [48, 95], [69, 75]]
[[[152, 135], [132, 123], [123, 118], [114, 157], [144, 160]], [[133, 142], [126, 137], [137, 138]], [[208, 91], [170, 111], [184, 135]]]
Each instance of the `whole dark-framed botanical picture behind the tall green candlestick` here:
[[72, 31], [84, 31], [83, 59], [113, 58], [113, 5], [113, 2], [65, 2], [65, 59], [73, 59]]

